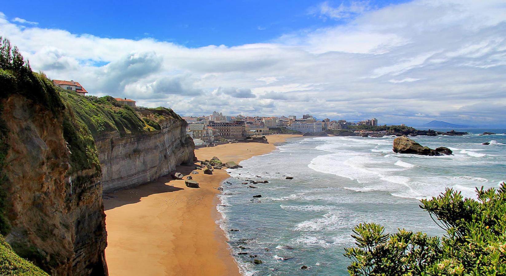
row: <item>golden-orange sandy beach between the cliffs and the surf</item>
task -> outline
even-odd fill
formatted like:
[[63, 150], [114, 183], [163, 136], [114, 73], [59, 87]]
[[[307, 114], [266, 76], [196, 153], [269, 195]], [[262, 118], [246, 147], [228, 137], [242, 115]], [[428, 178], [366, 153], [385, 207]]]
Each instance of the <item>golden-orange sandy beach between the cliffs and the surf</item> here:
[[[300, 135], [270, 135], [269, 144], [237, 143], [195, 150], [198, 160], [217, 156], [240, 162], [275, 149], [276, 143]], [[184, 180], [161, 177], [145, 185], [106, 196], [109, 275], [239, 275], [226, 237], [216, 224], [220, 183], [225, 170], [191, 174], [195, 166], [178, 166], [200, 188]]]

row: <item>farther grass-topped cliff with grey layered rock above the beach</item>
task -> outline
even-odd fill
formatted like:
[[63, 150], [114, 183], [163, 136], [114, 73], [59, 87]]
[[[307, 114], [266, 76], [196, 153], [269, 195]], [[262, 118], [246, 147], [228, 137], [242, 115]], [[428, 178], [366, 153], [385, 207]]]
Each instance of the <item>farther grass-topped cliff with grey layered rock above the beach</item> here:
[[60, 95], [91, 131], [102, 167], [104, 192], [157, 179], [192, 164], [194, 144], [186, 121], [168, 108], [132, 108], [111, 97]]

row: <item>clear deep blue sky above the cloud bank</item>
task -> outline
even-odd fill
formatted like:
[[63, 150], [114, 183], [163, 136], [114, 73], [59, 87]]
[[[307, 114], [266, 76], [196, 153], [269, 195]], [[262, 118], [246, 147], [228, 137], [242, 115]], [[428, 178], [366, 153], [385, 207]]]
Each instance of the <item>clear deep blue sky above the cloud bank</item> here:
[[[370, 1], [374, 9], [403, 1]], [[405, 2], [405, 1], [404, 1]], [[10, 18], [37, 22], [41, 28], [100, 37], [153, 37], [186, 47], [235, 46], [267, 42], [283, 33], [318, 29], [343, 22], [312, 13], [321, 1], [8, 1], [1, 11]], [[341, 4], [341, 1], [329, 2]], [[50, 15], [50, 16], [49, 16]]]

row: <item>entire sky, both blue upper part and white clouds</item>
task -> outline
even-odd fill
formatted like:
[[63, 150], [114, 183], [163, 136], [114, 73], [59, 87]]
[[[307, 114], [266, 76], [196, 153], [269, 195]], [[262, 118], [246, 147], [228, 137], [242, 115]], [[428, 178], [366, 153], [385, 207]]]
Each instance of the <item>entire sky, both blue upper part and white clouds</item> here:
[[50, 78], [183, 116], [506, 127], [504, 14], [503, 0], [11, 1], [0, 35]]

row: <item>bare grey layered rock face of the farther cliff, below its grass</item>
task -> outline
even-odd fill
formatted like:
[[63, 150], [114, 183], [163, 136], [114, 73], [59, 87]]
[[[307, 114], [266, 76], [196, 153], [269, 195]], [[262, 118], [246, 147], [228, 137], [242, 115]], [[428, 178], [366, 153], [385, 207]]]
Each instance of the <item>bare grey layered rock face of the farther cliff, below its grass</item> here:
[[159, 125], [156, 131], [123, 137], [108, 132], [95, 138], [104, 192], [137, 186], [174, 171], [177, 165], [193, 163], [194, 145], [186, 136], [186, 122], [167, 118]]

